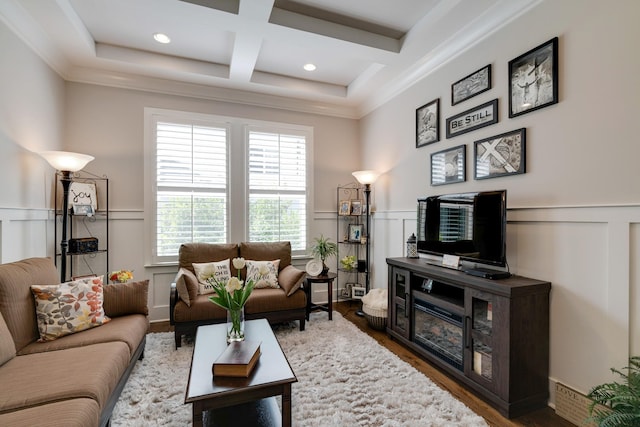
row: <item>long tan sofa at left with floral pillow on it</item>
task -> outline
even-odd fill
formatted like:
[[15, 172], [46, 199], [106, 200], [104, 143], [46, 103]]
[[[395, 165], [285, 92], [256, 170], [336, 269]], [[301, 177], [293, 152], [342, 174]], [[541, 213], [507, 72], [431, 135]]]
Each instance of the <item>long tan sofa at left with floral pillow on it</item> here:
[[39, 342], [31, 285], [57, 285], [49, 258], [0, 265], [0, 426], [106, 426], [149, 327], [148, 281], [103, 286], [109, 321]]

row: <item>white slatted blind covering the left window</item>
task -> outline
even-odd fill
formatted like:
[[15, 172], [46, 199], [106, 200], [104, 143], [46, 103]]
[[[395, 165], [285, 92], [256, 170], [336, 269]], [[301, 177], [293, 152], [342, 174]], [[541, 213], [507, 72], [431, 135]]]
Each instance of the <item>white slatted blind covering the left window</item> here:
[[184, 242], [226, 242], [227, 139], [225, 127], [157, 122], [157, 256], [177, 255]]

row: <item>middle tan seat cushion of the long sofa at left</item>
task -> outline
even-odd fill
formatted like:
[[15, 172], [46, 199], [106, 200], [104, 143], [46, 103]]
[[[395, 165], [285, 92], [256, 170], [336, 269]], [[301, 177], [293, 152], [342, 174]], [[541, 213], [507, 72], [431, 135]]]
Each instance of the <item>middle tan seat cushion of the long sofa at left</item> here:
[[130, 359], [118, 341], [14, 357], [1, 368], [1, 411], [84, 397], [104, 408]]

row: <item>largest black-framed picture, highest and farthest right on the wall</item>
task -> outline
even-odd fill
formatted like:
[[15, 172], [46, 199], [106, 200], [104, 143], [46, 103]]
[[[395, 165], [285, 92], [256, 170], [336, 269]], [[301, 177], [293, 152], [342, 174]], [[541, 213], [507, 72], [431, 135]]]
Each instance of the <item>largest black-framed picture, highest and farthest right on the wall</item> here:
[[509, 117], [558, 103], [558, 38], [509, 61]]

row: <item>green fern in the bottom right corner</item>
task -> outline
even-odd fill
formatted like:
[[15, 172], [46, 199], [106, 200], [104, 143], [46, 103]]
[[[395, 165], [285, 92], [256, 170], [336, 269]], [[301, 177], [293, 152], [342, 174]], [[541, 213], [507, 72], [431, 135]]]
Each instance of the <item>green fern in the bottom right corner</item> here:
[[589, 405], [589, 421], [599, 427], [640, 426], [640, 357], [630, 357], [629, 366], [623, 371], [611, 368], [611, 372], [623, 378], [622, 383], [612, 382], [595, 386], [588, 394], [593, 400]]

